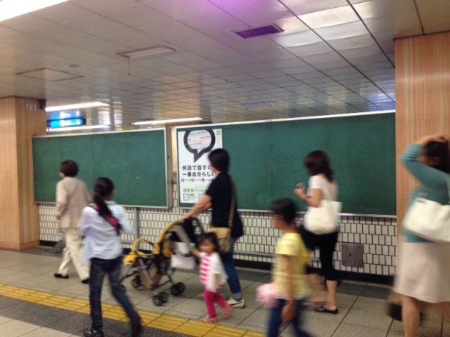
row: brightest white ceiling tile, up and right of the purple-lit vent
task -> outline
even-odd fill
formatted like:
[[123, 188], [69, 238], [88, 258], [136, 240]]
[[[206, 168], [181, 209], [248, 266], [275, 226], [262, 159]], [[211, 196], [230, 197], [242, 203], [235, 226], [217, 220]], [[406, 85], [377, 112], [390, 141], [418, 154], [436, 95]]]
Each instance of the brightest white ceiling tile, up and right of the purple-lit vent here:
[[359, 21], [351, 6], [316, 11], [315, 13], [300, 15], [299, 18], [312, 29]]

